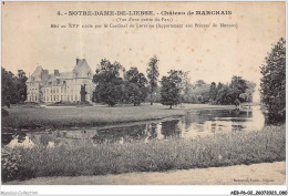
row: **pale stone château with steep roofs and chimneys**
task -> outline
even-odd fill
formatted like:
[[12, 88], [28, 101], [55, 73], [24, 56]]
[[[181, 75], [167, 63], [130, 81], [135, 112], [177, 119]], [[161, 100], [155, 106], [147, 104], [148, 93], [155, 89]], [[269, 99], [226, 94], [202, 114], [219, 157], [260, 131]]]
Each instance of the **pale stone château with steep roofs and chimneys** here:
[[92, 70], [85, 59], [76, 59], [71, 72], [54, 70], [54, 73], [49, 74], [48, 70], [38, 66], [27, 81], [27, 102], [80, 102], [83, 84], [85, 84], [85, 100], [92, 102], [95, 90], [92, 79]]

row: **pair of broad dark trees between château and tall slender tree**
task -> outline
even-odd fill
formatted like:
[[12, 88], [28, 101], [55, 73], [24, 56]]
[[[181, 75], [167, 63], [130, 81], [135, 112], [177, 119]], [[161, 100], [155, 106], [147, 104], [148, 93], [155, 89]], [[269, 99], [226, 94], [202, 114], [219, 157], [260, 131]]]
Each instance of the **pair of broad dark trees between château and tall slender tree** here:
[[[95, 102], [110, 106], [133, 103], [136, 106], [146, 100], [147, 80], [137, 68], [131, 68], [124, 73], [124, 68], [117, 62], [112, 64], [109, 60], [102, 60], [100, 65], [93, 78], [93, 82], [97, 84], [93, 99]], [[123, 75], [120, 74], [121, 71]]]

